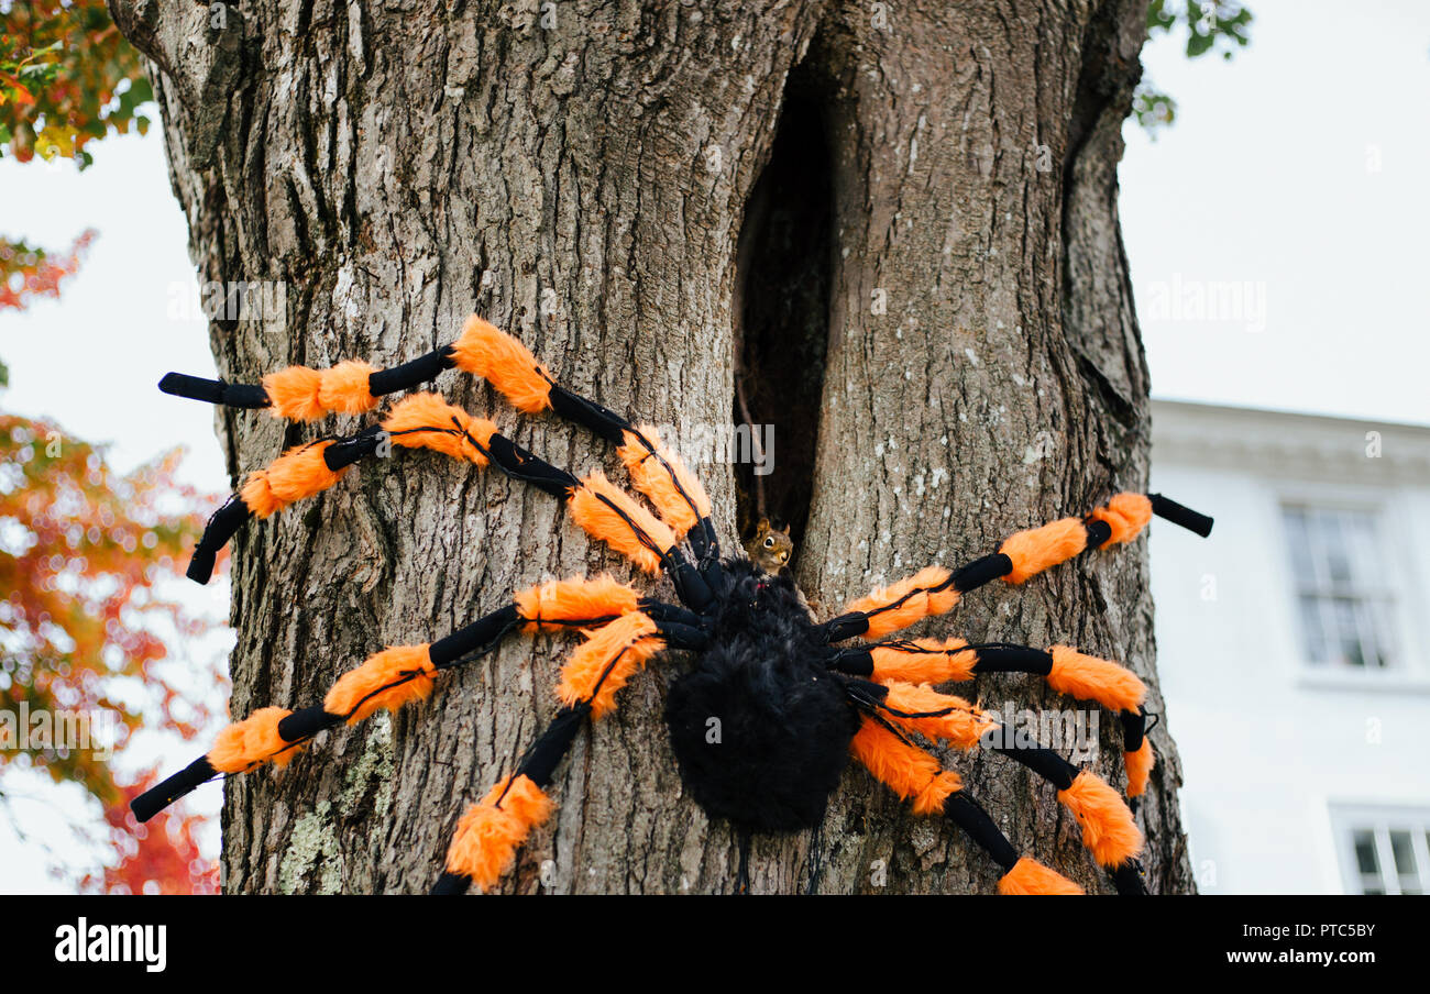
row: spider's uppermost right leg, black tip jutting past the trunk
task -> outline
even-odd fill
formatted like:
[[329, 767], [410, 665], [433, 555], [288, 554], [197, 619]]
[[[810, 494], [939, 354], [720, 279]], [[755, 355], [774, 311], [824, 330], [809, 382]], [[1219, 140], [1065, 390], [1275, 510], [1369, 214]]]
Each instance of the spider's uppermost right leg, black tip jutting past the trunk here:
[[857, 635], [881, 638], [930, 615], [952, 611], [958, 599], [984, 584], [1004, 579], [1022, 584], [1090, 549], [1131, 542], [1158, 515], [1200, 535], [1211, 532], [1211, 519], [1154, 493], [1118, 493], [1087, 518], [1062, 518], [1041, 528], [1010, 535], [998, 552], [950, 572], [927, 566], [912, 576], [852, 602], [844, 614], [819, 629], [827, 642]]

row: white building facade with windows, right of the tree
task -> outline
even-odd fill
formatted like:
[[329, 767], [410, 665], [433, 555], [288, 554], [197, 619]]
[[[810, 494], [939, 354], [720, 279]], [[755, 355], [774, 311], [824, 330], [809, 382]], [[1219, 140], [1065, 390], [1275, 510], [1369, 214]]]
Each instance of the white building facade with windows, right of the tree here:
[[1158, 400], [1151, 489], [1200, 890], [1430, 892], [1430, 429]]

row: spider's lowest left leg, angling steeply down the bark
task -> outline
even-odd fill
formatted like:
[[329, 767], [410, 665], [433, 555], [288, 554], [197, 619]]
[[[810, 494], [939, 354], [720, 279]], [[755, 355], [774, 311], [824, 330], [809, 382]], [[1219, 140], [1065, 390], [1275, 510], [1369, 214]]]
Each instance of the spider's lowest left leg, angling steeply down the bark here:
[[531, 830], [552, 812], [546, 794], [582, 719], [615, 709], [615, 695], [652, 655], [666, 648], [698, 648], [704, 632], [658, 622], [642, 612], [586, 634], [562, 666], [556, 695], [562, 709], [516, 769], [502, 778], [458, 822], [433, 894], [463, 894], [473, 884], [488, 890], [511, 870]]

